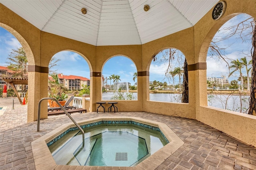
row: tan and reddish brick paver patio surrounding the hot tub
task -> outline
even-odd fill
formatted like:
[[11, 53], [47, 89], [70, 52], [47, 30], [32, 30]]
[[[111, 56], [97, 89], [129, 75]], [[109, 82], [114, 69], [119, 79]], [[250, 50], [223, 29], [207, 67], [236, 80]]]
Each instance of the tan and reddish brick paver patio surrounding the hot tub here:
[[[12, 101], [7, 101], [0, 100], [0, 107], [8, 105], [4, 114], [0, 115], [0, 170], [34, 170], [31, 142], [64, 123], [70, 123], [71, 120], [65, 115], [49, 117], [41, 120], [40, 132], [37, 132], [37, 122], [26, 123], [27, 106], [15, 101], [12, 109]], [[256, 170], [255, 148], [196, 120], [146, 112], [93, 112], [72, 115], [76, 121], [100, 116], [133, 116], [166, 123], [185, 144], [162, 162], [157, 170]]]

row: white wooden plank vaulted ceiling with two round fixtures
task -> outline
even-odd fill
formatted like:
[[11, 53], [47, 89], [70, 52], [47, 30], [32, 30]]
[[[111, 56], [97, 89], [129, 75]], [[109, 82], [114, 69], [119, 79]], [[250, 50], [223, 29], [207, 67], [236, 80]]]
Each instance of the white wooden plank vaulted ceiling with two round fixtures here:
[[[144, 44], [194, 26], [218, 0], [0, 0], [38, 29], [92, 45]], [[144, 5], [150, 10], [145, 12]], [[87, 14], [81, 9], [86, 8]]]

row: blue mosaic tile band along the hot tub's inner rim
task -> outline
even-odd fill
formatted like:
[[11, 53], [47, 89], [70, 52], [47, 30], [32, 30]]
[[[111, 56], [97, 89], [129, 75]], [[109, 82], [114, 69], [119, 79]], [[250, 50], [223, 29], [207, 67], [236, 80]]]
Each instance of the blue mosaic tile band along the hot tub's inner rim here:
[[[164, 136], [164, 134], [160, 130], [160, 128], [154, 127], [154, 126], [151, 126], [151, 125], [145, 125], [143, 123], [138, 123], [138, 122], [135, 122], [135, 121], [98, 121], [98, 122], [94, 122], [94, 123], [88, 123], [88, 124], [85, 124], [85, 125], [81, 125], [80, 127], [81, 128], [86, 128], [86, 127], [92, 127], [94, 125], [100, 125], [100, 124], [134, 124], [134, 125], [138, 125], [138, 126], [141, 126], [141, 127], [146, 127], [146, 128], [150, 128], [150, 129], [153, 129], [153, 130], [157, 130]], [[77, 127], [69, 128], [68, 130], [66, 130], [65, 132], [63, 132], [62, 134], [60, 134], [59, 136], [57, 136], [56, 138], [54, 138], [53, 140], [48, 142], [47, 146], [52, 145], [54, 142], [56, 142], [58, 139], [60, 139], [62, 136], [64, 136], [65, 134], [67, 134], [69, 131], [72, 131], [72, 130], [78, 130], [78, 128]], [[164, 139], [169, 143], [169, 140], [166, 138], [166, 136], [164, 136]]]

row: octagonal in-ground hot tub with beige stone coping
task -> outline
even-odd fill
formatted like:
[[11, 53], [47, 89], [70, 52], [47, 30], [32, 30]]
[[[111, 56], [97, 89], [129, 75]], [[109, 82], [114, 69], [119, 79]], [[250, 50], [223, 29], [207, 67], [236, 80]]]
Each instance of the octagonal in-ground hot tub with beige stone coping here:
[[[124, 123], [140, 126], [142, 127], [142, 131], [137, 132], [137, 129], [136, 129], [137, 127], [135, 127], [136, 130], [131, 130], [130, 128], [125, 129], [124, 126], [126, 125], [124, 125]], [[182, 144], [184, 144], [184, 142], [166, 124], [158, 123], [158, 122], [150, 121], [146, 119], [140, 119], [136, 117], [99, 117], [99, 118], [79, 121], [78, 124], [82, 128], [84, 127], [93, 128], [93, 125], [102, 124], [103, 128], [101, 127], [101, 130], [99, 130], [99, 128], [97, 127], [96, 129], [98, 129], [98, 131], [96, 130], [96, 132], [94, 133], [92, 133], [89, 130], [88, 134], [92, 134], [92, 135], [91, 136], [85, 135], [86, 136], [85, 138], [87, 140], [85, 140], [84, 150], [81, 148], [82, 136], [75, 135], [76, 137], [74, 137], [74, 135], [72, 134], [72, 133], [75, 133], [75, 134], [79, 133], [79, 132], [76, 132], [78, 131], [78, 130], [75, 130], [77, 127], [75, 127], [74, 124], [72, 123], [67, 123], [65, 125], [62, 125], [61, 127], [58, 127], [55, 130], [52, 130], [52, 132], [49, 132], [48, 134], [38, 138], [37, 140], [32, 142], [32, 151], [34, 155], [36, 168], [44, 167], [44, 168], [51, 169], [54, 167], [56, 168], [58, 164], [62, 164], [60, 166], [63, 166], [63, 168], [65, 168], [65, 166], [66, 168], [70, 166], [74, 166], [74, 168], [76, 166], [81, 166], [82, 168], [82, 166], [87, 164], [91, 166], [104, 166], [107, 160], [104, 159], [103, 164], [97, 163], [97, 162], [100, 162], [98, 161], [100, 160], [100, 158], [97, 160], [97, 157], [99, 157], [99, 154], [98, 153], [95, 154], [94, 152], [97, 152], [98, 150], [102, 150], [102, 152], [103, 151], [107, 152], [104, 154], [104, 156], [105, 157], [108, 156], [108, 147], [106, 147], [105, 149], [102, 148], [104, 145], [102, 144], [102, 140], [112, 140], [112, 138], [116, 138], [116, 136], [123, 135], [124, 139], [120, 140], [121, 143], [119, 145], [124, 146], [124, 143], [123, 143], [124, 140], [130, 140], [129, 141], [130, 143], [128, 143], [128, 145], [131, 145], [131, 148], [128, 151], [126, 150], [125, 152], [123, 152], [122, 151], [123, 148], [118, 147], [117, 144], [109, 144], [109, 143], [106, 144], [108, 146], [111, 146], [111, 145], [113, 146], [113, 148], [111, 149], [111, 150], [114, 150], [114, 152], [112, 153], [112, 157], [114, 156], [115, 158], [117, 158], [116, 162], [118, 162], [117, 164], [114, 164], [114, 165], [106, 164], [106, 166], [135, 166], [136, 165], [138, 167], [142, 167], [145, 169], [155, 169], [173, 152], [175, 152], [180, 146], [182, 146]], [[113, 128], [115, 126], [118, 126], [117, 127], [118, 130], [113, 131]], [[163, 138], [159, 139], [160, 143], [162, 142], [163, 146], [156, 146], [156, 148], [159, 149], [157, 151], [156, 151], [156, 148], [154, 148], [153, 146], [151, 150], [151, 146], [147, 146], [146, 144], [146, 140], [150, 140], [149, 138], [154, 138], [154, 135], [153, 137], [145, 136], [146, 132], [144, 134], [143, 130], [145, 130], [145, 128], [148, 128], [148, 127], [150, 129], [157, 130], [159, 133], [163, 134]], [[106, 128], [110, 130], [104, 130]], [[54, 144], [62, 136], [64, 136], [65, 134], [68, 134], [70, 130], [75, 130], [75, 131], [72, 132], [71, 135], [67, 135], [70, 137], [67, 137], [66, 141], [63, 141], [61, 139], [60, 144]], [[145, 131], [147, 131], [147, 129]], [[151, 131], [149, 133], [151, 133]], [[158, 135], [155, 135], [155, 136], [158, 136]], [[70, 143], [71, 140], [74, 140], [75, 142], [77, 142], [78, 146], [74, 146], [73, 148], [72, 148], [72, 144], [68, 146], [68, 143]], [[97, 140], [98, 140], [98, 144], [97, 144]], [[153, 141], [153, 144], [155, 140], [157, 139], [151, 140]], [[166, 142], [164, 142], [164, 140], [166, 140]], [[157, 143], [159, 143], [159, 141], [156, 142], [156, 144], [154, 145], [158, 145]], [[113, 143], [116, 141], [112, 140], [109, 142]], [[139, 145], [141, 146], [140, 147], [138, 147], [138, 145], [133, 146], [134, 143], [139, 143]], [[57, 158], [55, 158], [56, 161], [54, 160], [52, 153], [50, 152], [47, 144], [50, 148], [51, 147], [54, 148], [54, 149], [52, 148], [51, 149], [52, 149], [53, 155], [54, 156], [57, 155]], [[58, 145], [60, 145], [60, 147]], [[60, 151], [59, 148], [64, 148], [64, 150]], [[118, 148], [121, 148], [121, 152], [118, 151]], [[136, 153], [133, 153], [134, 152], [132, 151], [133, 148]], [[66, 155], [68, 155], [69, 151], [70, 151], [69, 155], [71, 157], [69, 156], [68, 158], [66, 158]], [[148, 151], [154, 152], [154, 154], [150, 156]], [[130, 158], [129, 158], [129, 155], [130, 155]], [[111, 156], [111, 154], [109, 154], [109, 156]], [[66, 159], [64, 163], [60, 160], [60, 158], [62, 157]], [[92, 161], [92, 159], [94, 159], [94, 161]], [[63, 164], [66, 164], [66, 162], [69, 162], [68, 164], [70, 165], [63, 165]], [[78, 164], [75, 163], [74, 165], [74, 162], [78, 162]], [[92, 164], [90, 164], [90, 162], [92, 162]], [[122, 164], [122, 163], [120, 164], [120, 162], [124, 162], [126, 164]]]

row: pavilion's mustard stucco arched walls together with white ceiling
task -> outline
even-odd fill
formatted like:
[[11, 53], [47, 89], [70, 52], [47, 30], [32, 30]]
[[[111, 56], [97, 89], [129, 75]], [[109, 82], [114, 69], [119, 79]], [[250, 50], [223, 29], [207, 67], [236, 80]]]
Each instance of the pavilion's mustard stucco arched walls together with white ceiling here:
[[[150, 112], [195, 119], [256, 147], [256, 117], [208, 107], [206, 56], [218, 29], [234, 16], [256, 18], [256, 0], [0, 0], [0, 26], [12, 33], [28, 56], [28, 123], [37, 120], [38, 102], [47, 97], [48, 65], [59, 51], [79, 53], [90, 67], [90, 111], [101, 101], [104, 63], [130, 58], [137, 67], [138, 100], [118, 101], [118, 111]], [[150, 9], [144, 11], [144, 6]], [[86, 14], [83, 14], [86, 8]], [[84, 12], [85, 13], [85, 12]], [[149, 100], [152, 56], [166, 48], [184, 53], [188, 62], [189, 103]], [[46, 101], [41, 119], [46, 119]], [[132, 107], [131, 107], [132, 106]], [[146, 113], [145, 113], [146, 114]]]

